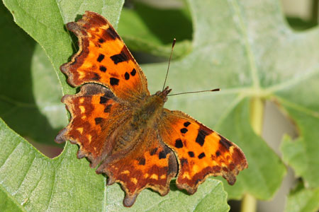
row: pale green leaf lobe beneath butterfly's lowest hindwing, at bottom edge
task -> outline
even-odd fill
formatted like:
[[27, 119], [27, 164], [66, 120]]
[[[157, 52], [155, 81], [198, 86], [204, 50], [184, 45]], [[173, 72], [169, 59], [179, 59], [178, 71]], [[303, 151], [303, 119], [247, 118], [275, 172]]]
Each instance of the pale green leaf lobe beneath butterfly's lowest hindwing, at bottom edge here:
[[171, 191], [167, 196], [159, 196], [148, 189], [144, 190], [132, 208], [122, 206], [123, 200], [119, 196], [123, 194], [118, 195], [118, 188], [118, 185], [108, 187], [106, 211], [229, 211], [223, 184], [214, 179], [208, 179], [207, 184], [198, 187], [192, 196], [178, 191], [174, 184], [171, 184]]

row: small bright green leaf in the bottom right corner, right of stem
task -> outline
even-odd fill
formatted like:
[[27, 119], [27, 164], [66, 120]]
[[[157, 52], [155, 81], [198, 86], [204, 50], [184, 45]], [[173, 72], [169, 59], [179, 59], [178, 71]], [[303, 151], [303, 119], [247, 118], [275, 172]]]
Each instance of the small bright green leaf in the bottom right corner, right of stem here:
[[298, 189], [289, 195], [286, 212], [315, 212], [319, 210], [319, 188]]

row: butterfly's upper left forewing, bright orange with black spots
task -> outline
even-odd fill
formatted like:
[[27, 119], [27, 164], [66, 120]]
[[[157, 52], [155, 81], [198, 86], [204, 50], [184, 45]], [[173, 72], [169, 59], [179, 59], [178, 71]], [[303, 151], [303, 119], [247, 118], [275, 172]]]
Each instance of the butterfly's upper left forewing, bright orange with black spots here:
[[79, 38], [79, 52], [60, 68], [70, 85], [100, 83], [123, 100], [150, 95], [144, 73], [106, 18], [86, 11], [67, 29]]

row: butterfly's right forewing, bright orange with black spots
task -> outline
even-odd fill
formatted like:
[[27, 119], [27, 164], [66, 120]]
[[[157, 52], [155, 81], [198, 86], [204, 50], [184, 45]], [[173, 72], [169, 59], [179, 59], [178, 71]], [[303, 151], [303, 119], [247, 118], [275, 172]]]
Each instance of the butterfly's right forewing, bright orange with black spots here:
[[177, 187], [194, 194], [206, 177], [223, 176], [234, 184], [247, 167], [244, 153], [234, 143], [180, 111], [164, 109], [159, 134], [179, 162]]

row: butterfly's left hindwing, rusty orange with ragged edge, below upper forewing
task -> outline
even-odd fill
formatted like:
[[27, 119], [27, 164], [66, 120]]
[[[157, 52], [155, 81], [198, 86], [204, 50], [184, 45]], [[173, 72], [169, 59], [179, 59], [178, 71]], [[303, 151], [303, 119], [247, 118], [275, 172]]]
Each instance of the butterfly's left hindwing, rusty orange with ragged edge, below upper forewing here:
[[91, 167], [96, 167], [116, 145], [113, 137], [119, 126], [130, 119], [130, 110], [111, 90], [94, 83], [85, 84], [76, 95], [65, 95], [62, 102], [71, 120], [55, 141], [78, 144], [77, 158], [86, 157]]

